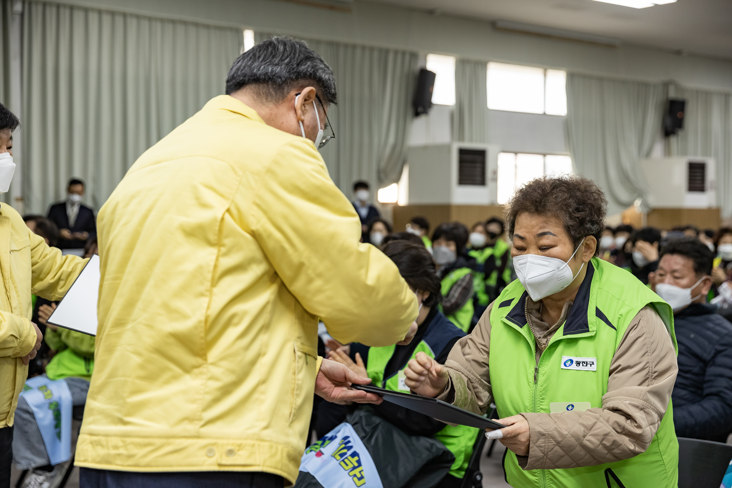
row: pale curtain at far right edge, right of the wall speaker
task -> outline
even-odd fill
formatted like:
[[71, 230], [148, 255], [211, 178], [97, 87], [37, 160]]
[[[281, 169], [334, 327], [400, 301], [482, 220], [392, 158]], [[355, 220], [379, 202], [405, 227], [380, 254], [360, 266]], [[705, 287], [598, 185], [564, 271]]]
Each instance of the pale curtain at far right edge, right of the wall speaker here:
[[669, 95], [686, 100], [684, 128], [671, 136], [671, 155], [714, 157], [717, 202], [732, 217], [732, 94], [669, 86]]

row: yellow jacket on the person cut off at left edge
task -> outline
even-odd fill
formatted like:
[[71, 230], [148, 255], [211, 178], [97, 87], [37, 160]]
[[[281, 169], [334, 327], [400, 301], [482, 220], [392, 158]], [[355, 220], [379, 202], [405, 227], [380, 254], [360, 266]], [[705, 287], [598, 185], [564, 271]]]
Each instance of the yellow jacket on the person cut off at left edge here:
[[15, 417], [18, 394], [28, 378], [23, 356], [36, 343], [31, 294], [60, 300], [86, 259], [61, 256], [26, 226], [10, 205], [0, 206], [0, 428]]

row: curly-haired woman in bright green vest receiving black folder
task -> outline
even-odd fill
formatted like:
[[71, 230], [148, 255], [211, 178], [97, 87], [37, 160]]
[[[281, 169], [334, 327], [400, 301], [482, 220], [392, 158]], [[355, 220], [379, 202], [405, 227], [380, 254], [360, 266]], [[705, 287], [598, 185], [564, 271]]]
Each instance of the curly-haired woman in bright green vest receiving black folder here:
[[676, 487], [671, 307], [597, 258], [607, 203], [581, 176], [536, 179], [507, 205], [518, 280], [444, 366], [417, 354], [415, 393], [485, 413], [512, 487]]

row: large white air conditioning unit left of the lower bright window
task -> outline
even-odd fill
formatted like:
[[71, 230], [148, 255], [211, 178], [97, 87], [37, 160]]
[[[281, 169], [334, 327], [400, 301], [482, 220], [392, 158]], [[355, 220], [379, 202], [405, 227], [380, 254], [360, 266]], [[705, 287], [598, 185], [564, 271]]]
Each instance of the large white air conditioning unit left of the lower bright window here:
[[497, 203], [496, 144], [450, 143], [409, 149], [409, 205]]

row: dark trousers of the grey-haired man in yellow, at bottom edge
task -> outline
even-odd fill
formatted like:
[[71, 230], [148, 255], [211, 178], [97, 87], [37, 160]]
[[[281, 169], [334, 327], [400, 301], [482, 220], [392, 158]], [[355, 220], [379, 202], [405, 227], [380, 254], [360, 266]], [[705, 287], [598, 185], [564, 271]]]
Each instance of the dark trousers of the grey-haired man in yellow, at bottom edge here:
[[282, 488], [282, 476], [235, 471], [131, 473], [81, 468], [80, 488]]

